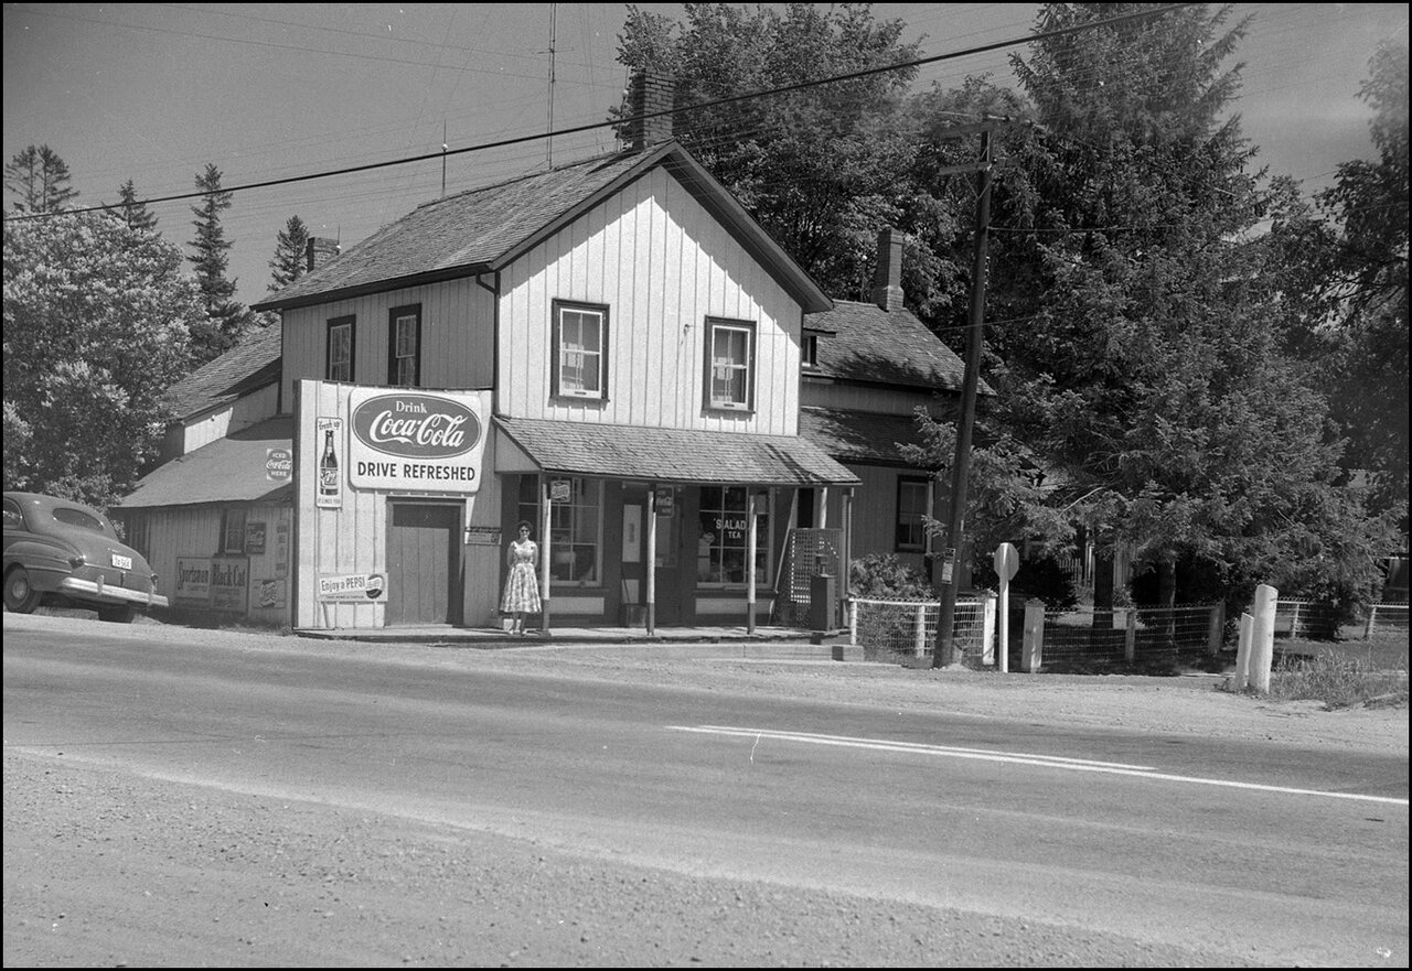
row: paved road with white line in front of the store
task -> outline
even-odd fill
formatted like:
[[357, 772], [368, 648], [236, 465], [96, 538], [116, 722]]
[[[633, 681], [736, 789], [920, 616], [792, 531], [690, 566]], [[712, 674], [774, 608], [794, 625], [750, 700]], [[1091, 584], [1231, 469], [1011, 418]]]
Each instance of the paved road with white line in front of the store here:
[[7, 631], [4, 741], [690, 876], [1406, 964], [1406, 759], [394, 656]]

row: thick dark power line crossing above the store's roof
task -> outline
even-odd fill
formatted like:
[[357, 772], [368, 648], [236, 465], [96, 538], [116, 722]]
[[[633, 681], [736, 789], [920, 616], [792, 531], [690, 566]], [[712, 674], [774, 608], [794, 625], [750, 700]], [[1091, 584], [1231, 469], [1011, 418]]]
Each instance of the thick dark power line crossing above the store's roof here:
[[[655, 117], [661, 117], [661, 116], [678, 116], [678, 114], [685, 114], [685, 113], [689, 113], [689, 111], [700, 111], [700, 110], [705, 110], [705, 109], [720, 107], [723, 104], [734, 104], [734, 103], [746, 102], [746, 100], [751, 100], [751, 99], [771, 97], [771, 96], [775, 96], [775, 95], [788, 95], [788, 93], [796, 92], [796, 90], [805, 90], [805, 89], [809, 89], [809, 88], [818, 88], [820, 85], [833, 85], [833, 83], [839, 83], [839, 82], [844, 82], [844, 80], [858, 80], [858, 79], [863, 79], [863, 78], [873, 78], [873, 76], [888, 73], [888, 72], [894, 72], [894, 71], [907, 71], [907, 69], [911, 69], [911, 68], [919, 68], [919, 66], [923, 66], [923, 65], [928, 65], [928, 64], [939, 64], [939, 62], [943, 62], [943, 61], [955, 61], [956, 58], [971, 56], [971, 55], [976, 55], [976, 54], [986, 54], [988, 51], [998, 51], [998, 49], [1003, 49], [1003, 48], [1018, 47], [1018, 45], [1022, 45], [1022, 44], [1034, 44], [1036, 41], [1045, 41], [1045, 40], [1051, 40], [1051, 38], [1055, 38], [1055, 37], [1063, 37], [1063, 35], [1067, 35], [1067, 34], [1076, 34], [1076, 32], [1080, 32], [1080, 31], [1097, 30], [1097, 28], [1101, 28], [1101, 27], [1110, 27], [1110, 25], [1114, 25], [1114, 24], [1127, 23], [1127, 21], [1144, 20], [1144, 18], [1149, 18], [1149, 17], [1159, 17], [1162, 14], [1172, 13], [1173, 10], [1180, 10], [1183, 7], [1193, 7], [1193, 6], [1200, 6], [1200, 4], [1196, 4], [1196, 3], [1175, 3], [1175, 4], [1168, 4], [1165, 7], [1155, 7], [1152, 10], [1139, 10], [1139, 11], [1135, 11], [1135, 13], [1123, 14], [1120, 17], [1110, 17], [1107, 20], [1093, 21], [1093, 23], [1087, 23], [1087, 24], [1075, 24], [1072, 27], [1062, 27], [1062, 28], [1056, 28], [1056, 30], [1052, 30], [1052, 31], [1043, 31], [1043, 32], [1039, 32], [1039, 34], [1029, 34], [1027, 37], [1018, 37], [1018, 38], [1011, 38], [1011, 40], [1005, 40], [1005, 41], [995, 41], [995, 42], [991, 42], [991, 44], [983, 44], [980, 47], [966, 48], [966, 49], [962, 49], [962, 51], [952, 51], [950, 54], [938, 54], [938, 55], [933, 55], [933, 56], [929, 56], [929, 58], [919, 58], [919, 59], [915, 59], [915, 61], [904, 61], [904, 62], [899, 62], [899, 64], [882, 65], [882, 66], [878, 66], [878, 68], [867, 68], [867, 69], [854, 71], [854, 72], [846, 73], [846, 75], [834, 75], [834, 76], [830, 76], [830, 78], [819, 78], [816, 80], [802, 80], [802, 82], [798, 82], [798, 83], [794, 83], [794, 85], [785, 85], [782, 88], [771, 88], [771, 89], [767, 89], [767, 90], [751, 92], [751, 93], [747, 93], [747, 95], [733, 95], [730, 97], [722, 97], [722, 99], [717, 99], [717, 100], [713, 100], [713, 102], [703, 102], [700, 104], [690, 104], [690, 106], [679, 107], [679, 109], [669, 109], [669, 110], [664, 110], [664, 111], [644, 111], [642, 114], [624, 116], [621, 119], [614, 119], [614, 120], [609, 120], [609, 121], [594, 121], [592, 124], [580, 124], [580, 126], [576, 126], [576, 127], [572, 127], [572, 128], [562, 128], [559, 131], [537, 133], [537, 134], [531, 134], [531, 135], [518, 135], [518, 137], [514, 137], [514, 138], [503, 138], [500, 141], [483, 143], [483, 144], [479, 144], [479, 145], [467, 145], [465, 148], [455, 148], [455, 150], [450, 150], [450, 151], [436, 151], [436, 152], [426, 152], [426, 154], [422, 154], [422, 155], [412, 155], [409, 158], [397, 158], [397, 159], [384, 161], [384, 162], [367, 162], [364, 165], [350, 165], [350, 167], [346, 167], [346, 168], [329, 169], [329, 171], [323, 171], [323, 172], [312, 172], [312, 174], [308, 174], [308, 175], [291, 175], [291, 176], [281, 178], [281, 179], [265, 179], [263, 182], [247, 182], [244, 185], [233, 185], [230, 188], [223, 188], [223, 189], [220, 189], [220, 192], [222, 193], [247, 192], [250, 189], [267, 189], [267, 188], [277, 186], [277, 185], [291, 185], [291, 183], [295, 183], [295, 182], [309, 182], [309, 181], [313, 181], [313, 179], [333, 178], [333, 176], [337, 176], [337, 175], [352, 175], [354, 172], [369, 172], [369, 171], [374, 171], [374, 169], [380, 169], [380, 168], [391, 168], [394, 165], [411, 165], [414, 162], [425, 162], [425, 161], [429, 161], [429, 159], [433, 159], [433, 158], [443, 158], [446, 155], [462, 155], [462, 154], [466, 154], [466, 152], [489, 151], [491, 148], [504, 148], [504, 147], [508, 147], [508, 145], [520, 145], [520, 144], [524, 144], [524, 143], [528, 143], [528, 141], [541, 141], [544, 138], [570, 135], [570, 134], [578, 134], [578, 133], [582, 133], [582, 131], [594, 131], [594, 130], [599, 130], [599, 128], [609, 128], [609, 127], [616, 127], [616, 126], [621, 126], [621, 124], [631, 124], [631, 123], [635, 123], [635, 121], [644, 121], [647, 119], [655, 119]], [[160, 202], [178, 202], [178, 200], [182, 200], [182, 199], [199, 199], [199, 198], [203, 198], [203, 196], [208, 196], [208, 195], [213, 195], [213, 193], [212, 192], [184, 192], [184, 193], [171, 195], [171, 196], [157, 196], [157, 198], [151, 198], [151, 199], [143, 199], [140, 202], [141, 202], [141, 205], [155, 205], [155, 203], [160, 203]], [[72, 215], [72, 213], [85, 213], [85, 212], [102, 212], [102, 210], [112, 209], [112, 207], [113, 206], [110, 206], [110, 205], [109, 206], [85, 206], [85, 207], [78, 207], [78, 209], [66, 209], [66, 210], [64, 210], [64, 213]], [[25, 213], [23, 216], [6, 215], [6, 219], [14, 220], [14, 222], [20, 222], [20, 220], [30, 220], [30, 219], [47, 219], [47, 217], [52, 217], [52, 216], [58, 216], [58, 215], [61, 215], [61, 213]]]

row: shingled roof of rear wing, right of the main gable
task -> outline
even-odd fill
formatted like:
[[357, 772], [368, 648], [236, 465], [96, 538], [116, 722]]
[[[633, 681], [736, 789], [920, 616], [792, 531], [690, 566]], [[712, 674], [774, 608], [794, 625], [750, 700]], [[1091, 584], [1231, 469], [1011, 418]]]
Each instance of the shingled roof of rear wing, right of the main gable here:
[[[834, 301], [832, 310], [806, 316], [803, 329], [827, 334], [806, 375], [928, 391], [960, 391], [966, 378], [962, 358], [911, 310]], [[984, 381], [979, 391], [994, 394]]]

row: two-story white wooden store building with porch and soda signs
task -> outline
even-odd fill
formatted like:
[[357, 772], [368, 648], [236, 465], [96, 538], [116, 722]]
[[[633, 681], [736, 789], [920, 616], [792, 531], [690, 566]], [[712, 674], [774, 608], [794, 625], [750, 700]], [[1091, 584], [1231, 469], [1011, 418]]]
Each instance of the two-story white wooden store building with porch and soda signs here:
[[[244, 556], [247, 613], [298, 628], [489, 627], [527, 519], [555, 624], [768, 622], [786, 570], [846, 576], [863, 480], [830, 443], [880, 416], [802, 411], [801, 375], [830, 382], [816, 349], [837, 327], [915, 325], [931, 343], [891, 435], [959, 385], [959, 361], [899, 306], [836, 306], [651, 121], [633, 151], [426, 203], [258, 305], [282, 318], [278, 415], [157, 469], [116, 511], [158, 573]], [[888, 474], [909, 483], [878, 487], [905, 512], [870, 515], [919, 556], [925, 474]], [[251, 514], [254, 552], [234, 528]], [[217, 605], [202, 583], [182, 593]]]

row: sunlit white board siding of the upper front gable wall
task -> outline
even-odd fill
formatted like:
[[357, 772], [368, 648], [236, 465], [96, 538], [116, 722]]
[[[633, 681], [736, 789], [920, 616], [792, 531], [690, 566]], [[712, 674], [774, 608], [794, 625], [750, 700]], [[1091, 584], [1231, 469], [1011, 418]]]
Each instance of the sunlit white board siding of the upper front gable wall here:
[[[554, 299], [609, 306], [609, 401], [549, 399]], [[755, 414], [702, 408], [705, 318], [757, 322]], [[795, 435], [799, 305], [665, 169], [507, 268], [500, 409], [522, 418]]]

